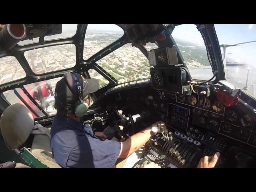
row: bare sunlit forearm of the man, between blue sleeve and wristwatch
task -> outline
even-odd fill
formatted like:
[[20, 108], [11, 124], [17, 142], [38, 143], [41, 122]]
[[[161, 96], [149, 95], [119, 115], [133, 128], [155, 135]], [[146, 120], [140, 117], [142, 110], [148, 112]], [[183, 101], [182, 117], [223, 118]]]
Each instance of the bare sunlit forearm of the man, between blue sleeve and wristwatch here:
[[121, 151], [118, 158], [127, 158], [133, 152], [143, 146], [151, 137], [151, 129], [146, 128], [121, 143]]

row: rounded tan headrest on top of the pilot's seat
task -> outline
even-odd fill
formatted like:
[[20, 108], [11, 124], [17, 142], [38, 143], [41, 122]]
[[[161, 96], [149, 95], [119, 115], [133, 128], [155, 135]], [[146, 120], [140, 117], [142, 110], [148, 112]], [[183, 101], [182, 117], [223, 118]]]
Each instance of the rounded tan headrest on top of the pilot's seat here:
[[20, 148], [34, 127], [31, 112], [22, 104], [8, 106], [2, 113], [0, 128], [9, 149]]

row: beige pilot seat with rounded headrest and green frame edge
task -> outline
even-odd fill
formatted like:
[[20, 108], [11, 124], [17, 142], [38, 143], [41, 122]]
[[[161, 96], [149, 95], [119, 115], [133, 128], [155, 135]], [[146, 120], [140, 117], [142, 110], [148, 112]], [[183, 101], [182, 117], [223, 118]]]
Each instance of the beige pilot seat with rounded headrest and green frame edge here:
[[[0, 128], [4, 142], [33, 168], [61, 168], [53, 159], [50, 148], [50, 130], [34, 124], [31, 112], [20, 103], [8, 106], [2, 113]], [[31, 148], [24, 147], [34, 136]]]

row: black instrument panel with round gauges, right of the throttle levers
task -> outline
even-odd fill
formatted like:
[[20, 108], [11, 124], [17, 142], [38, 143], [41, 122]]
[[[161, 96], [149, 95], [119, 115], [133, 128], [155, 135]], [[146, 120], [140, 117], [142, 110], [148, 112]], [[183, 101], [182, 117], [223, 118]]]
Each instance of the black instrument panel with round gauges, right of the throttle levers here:
[[256, 147], [256, 123], [237, 106], [226, 107], [214, 95], [174, 95], [156, 90], [154, 101], [160, 103], [156, 108], [162, 113], [161, 120], [166, 119], [166, 125], [174, 130], [186, 134], [192, 126]]

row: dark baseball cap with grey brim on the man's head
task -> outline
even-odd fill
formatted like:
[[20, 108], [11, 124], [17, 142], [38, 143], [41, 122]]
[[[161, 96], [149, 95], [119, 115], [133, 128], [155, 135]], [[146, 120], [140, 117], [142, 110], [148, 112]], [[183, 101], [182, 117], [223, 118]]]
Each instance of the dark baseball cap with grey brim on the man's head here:
[[[100, 85], [97, 79], [85, 79], [78, 73], [73, 74], [75, 74], [80, 82], [83, 98], [87, 94], [96, 92], [99, 89]], [[72, 73], [64, 74], [63, 78], [56, 83], [55, 98], [67, 108], [71, 108], [78, 102], [79, 93]]]

